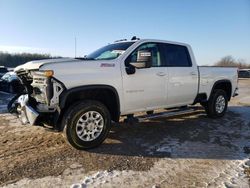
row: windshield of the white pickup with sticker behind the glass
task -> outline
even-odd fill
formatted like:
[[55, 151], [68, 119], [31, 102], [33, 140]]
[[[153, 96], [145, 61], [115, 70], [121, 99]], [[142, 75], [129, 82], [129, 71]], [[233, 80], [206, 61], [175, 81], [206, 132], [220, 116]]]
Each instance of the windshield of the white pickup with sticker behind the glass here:
[[128, 49], [128, 47], [130, 47], [133, 43], [134, 42], [122, 42], [122, 43], [109, 44], [87, 55], [84, 59], [89, 59], [89, 60], [116, 59], [121, 54], [123, 54]]

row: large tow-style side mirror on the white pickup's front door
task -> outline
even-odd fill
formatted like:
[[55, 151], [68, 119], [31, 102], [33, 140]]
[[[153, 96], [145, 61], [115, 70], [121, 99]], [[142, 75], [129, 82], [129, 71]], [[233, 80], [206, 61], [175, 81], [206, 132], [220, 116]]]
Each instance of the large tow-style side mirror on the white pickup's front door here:
[[133, 67], [141, 69], [141, 68], [150, 68], [152, 66], [152, 54], [147, 50], [140, 50], [137, 53], [136, 62], [130, 63]]

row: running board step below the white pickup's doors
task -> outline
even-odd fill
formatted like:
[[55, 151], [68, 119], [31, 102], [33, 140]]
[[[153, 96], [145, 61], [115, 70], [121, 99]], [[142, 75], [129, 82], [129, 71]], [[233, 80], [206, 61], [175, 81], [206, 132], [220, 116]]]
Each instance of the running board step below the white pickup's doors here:
[[143, 122], [145, 120], [150, 120], [150, 119], [156, 119], [156, 118], [166, 118], [166, 117], [171, 117], [171, 116], [178, 116], [178, 115], [183, 115], [187, 113], [194, 112], [196, 108], [180, 108], [180, 109], [175, 109], [167, 112], [160, 112], [160, 113], [155, 113], [155, 114], [150, 114], [150, 115], [142, 115], [142, 116], [135, 116], [131, 118], [125, 119], [125, 122], [127, 123], [133, 123], [133, 122]]

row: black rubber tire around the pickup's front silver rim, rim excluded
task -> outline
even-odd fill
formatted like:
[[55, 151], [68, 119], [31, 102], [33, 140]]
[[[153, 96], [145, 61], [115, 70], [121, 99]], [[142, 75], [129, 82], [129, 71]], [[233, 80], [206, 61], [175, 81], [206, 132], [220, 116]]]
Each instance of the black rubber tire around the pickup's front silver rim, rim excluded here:
[[[81, 140], [76, 133], [76, 125], [79, 118], [89, 111], [96, 111], [101, 114], [104, 124], [101, 134], [92, 141]], [[99, 101], [85, 100], [73, 104], [65, 113], [62, 123], [64, 136], [69, 144], [79, 150], [87, 150], [99, 146], [108, 136], [111, 128], [110, 113], [105, 105]]]

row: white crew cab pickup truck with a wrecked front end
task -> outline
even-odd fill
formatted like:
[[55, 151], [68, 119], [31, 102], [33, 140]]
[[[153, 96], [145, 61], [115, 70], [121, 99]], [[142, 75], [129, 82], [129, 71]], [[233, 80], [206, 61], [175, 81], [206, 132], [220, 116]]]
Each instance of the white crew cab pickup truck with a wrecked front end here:
[[26, 91], [9, 104], [26, 124], [63, 131], [77, 149], [100, 145], [111, 122], [200, 103], [222, 117], [237, 95], [237, 69], [198, 67], [188, 44], [134, 39], [84, 58], [31, 61], [15, 68]]

